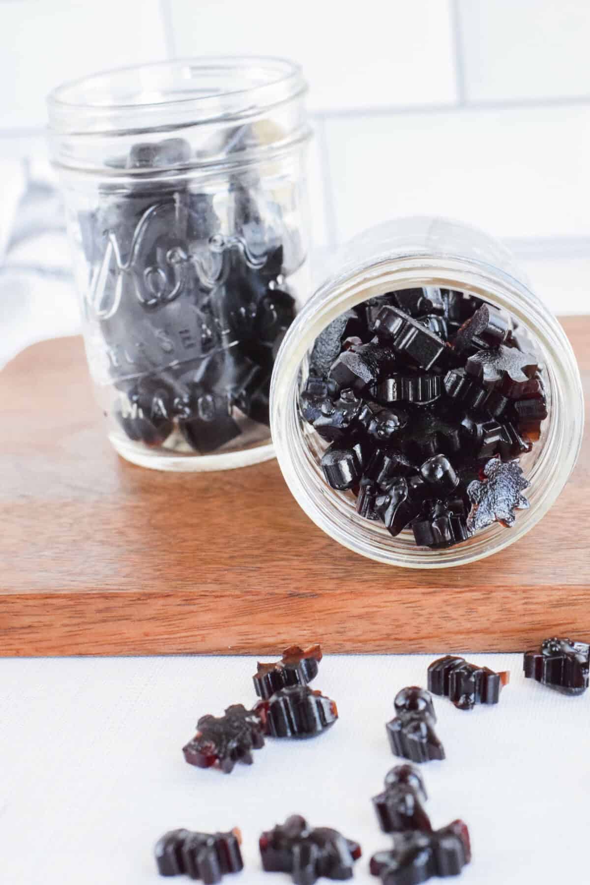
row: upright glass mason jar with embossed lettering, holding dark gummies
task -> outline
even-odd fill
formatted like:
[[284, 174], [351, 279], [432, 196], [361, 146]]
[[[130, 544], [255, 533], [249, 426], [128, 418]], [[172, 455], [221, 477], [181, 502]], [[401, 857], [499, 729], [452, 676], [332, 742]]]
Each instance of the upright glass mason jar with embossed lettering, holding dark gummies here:
[[135, 464], [272, 458], [272, 366], [309, 287], [305, 93], [283, 59], [197, 58], [49, 97], [90, 373]]

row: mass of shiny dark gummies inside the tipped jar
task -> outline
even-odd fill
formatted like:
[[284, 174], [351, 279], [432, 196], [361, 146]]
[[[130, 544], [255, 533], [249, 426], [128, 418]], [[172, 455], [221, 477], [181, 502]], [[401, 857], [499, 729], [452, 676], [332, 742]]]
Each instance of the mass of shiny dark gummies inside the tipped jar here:
[[[548, 395], [525, 328], [454, 289], [399, 289], [318, 335], [299, 396], [327, 484], [363, 519], [444, 549], [526, 509]], [[410, 535], [410, 536], [411, 536]]]

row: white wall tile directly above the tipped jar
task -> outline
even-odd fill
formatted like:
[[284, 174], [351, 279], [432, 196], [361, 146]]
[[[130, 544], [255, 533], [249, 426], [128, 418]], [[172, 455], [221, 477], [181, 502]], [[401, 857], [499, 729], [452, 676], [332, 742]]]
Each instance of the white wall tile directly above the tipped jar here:
[[498, 236], [590, 234], [590, 106], [326, 122], [338, 241], [397, 215]]

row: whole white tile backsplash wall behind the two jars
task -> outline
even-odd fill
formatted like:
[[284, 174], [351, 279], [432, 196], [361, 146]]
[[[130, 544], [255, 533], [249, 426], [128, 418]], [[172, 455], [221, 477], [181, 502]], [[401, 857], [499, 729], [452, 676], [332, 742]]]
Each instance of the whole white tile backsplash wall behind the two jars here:
[[310, 81], [315, 256], [393, 215], [448, 214], [516, 243], [556, 310], [590, 312], [588, 45], [589, 0], [0, 0], [0, 165], [44, 154], [65, 79], [288, 56]]

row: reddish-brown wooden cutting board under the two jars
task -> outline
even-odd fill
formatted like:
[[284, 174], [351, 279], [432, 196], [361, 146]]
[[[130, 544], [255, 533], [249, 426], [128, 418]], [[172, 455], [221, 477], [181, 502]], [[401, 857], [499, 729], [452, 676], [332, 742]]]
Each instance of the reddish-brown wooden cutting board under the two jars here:
[[[563, 319], [590, 391], [590, 317]], [[0, 654], [523, 650], [590, 640], [590, 441], [556, 506], [508, 550], [414, 571], [345, 550], [275, 461], [225, 473], [126, 464], [79, 338], [0, 373]]]

